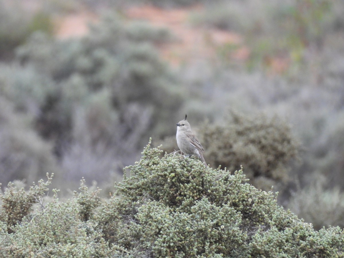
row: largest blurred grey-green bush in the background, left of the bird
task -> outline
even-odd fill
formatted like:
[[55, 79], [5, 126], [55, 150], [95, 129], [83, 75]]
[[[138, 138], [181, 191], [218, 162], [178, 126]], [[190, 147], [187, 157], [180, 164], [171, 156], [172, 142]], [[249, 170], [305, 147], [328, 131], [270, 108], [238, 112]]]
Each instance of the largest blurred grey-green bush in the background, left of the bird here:
[[[117, 14], [81, 39], [37, 32], [11, 65], [2, 65], [0, 93], [32, 118], [31, 130], [49, 142], [42, 144], [53, 145], [42, 153], [54, 154], [65, 179], [102, 181], [133, 162], [149, 136], [173, 131], [165, 121], [175, 119], [183, 98], [153, 46], [170, 39], [164, 29]], [[10, 175], [1, 180], [13, 180]]]

